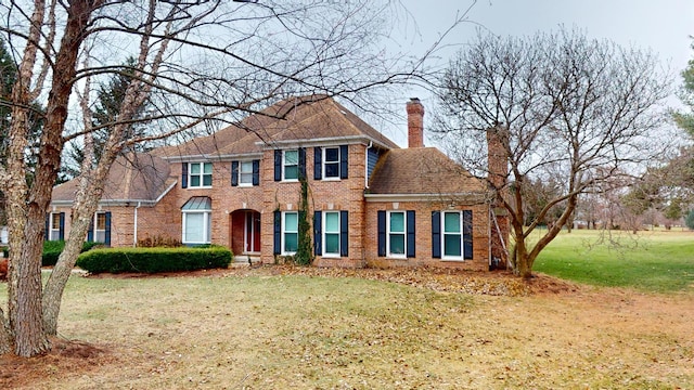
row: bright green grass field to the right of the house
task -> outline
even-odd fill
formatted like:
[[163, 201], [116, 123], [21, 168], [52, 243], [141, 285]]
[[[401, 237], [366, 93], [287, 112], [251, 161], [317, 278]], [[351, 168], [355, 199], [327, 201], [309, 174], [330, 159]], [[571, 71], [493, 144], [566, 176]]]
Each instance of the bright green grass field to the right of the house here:
[[535, 270], [596, 286], [694, 291], [694, 232], [562, 232]]

